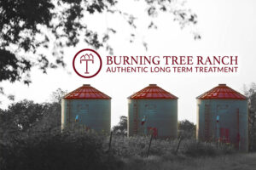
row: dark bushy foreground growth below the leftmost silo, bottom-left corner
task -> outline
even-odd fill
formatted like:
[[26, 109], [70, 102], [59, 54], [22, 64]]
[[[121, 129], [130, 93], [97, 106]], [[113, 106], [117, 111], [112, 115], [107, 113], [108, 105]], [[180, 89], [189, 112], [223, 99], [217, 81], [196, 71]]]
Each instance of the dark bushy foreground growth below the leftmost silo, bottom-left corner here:
[[37, 170], [119, 169], [122, 162], [102, 148], [102, 137], [88, 133], [38, 133], [1, 142], [0, 168]]

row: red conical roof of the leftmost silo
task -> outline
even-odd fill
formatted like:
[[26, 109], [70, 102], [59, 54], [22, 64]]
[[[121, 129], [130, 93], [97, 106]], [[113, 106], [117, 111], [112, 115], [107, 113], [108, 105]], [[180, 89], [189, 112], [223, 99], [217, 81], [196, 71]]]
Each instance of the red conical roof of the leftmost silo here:
[[82, 87], [75, 89], [73, 92], [64, 96], [64, 99], [111, 99], [107, 94], [84, 84]]

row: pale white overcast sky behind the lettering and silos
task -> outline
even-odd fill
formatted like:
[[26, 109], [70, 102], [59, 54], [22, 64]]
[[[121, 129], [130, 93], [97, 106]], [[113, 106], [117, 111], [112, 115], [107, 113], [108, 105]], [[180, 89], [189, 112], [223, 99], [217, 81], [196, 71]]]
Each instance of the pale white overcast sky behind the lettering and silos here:
[[[102, 71], [96, 77], [84, 79], [76, 75], [72, 67], [74, 54], [82, 48], [90, 48], [80, 43], [75, 48], [65, 49], [66, 70], [49, 70], [45, 75], [42, 71], [32, 69], [32, 84], [29, 87], [20, 82], [2, 82], [1, 86], [6, 94], [15, 94], [15, 101], [32, 99], [35, 102], [44, 102], [57, 88], [70, 92], [90, 83], [112, 97], [113, 126], [119, 122], [119, 116], [127, 116], [127, 97], [149, 83], [156, 83], [179, 98], [178, 120], [196, 122], [195, 97], [218, 83], [226, 83], [242, 93], [243, 84], [256, 82], [256, 1], [189, 0], [185, 5], [198, 15], [199, 23], [196, 27], [181, 30], [177, 22], [172, 21], [170, 14], [160, 14], [155, 20], [158, 29], [147, 30], [150, 20], [144, 13], [142, 1], [128, 3], [123, 0], [117, 6], [128, 12], [132, 9], [139, 16], [137, 31], [132, 30], [118, 15], [97, 14], [87, 20], [91, 29], [104, 31], [112, 26], [117, 31], [110, 39], [114, 55], [238, 55], [238, 73], [109, 74], [106, 73], [107, 66], [104, 65], [104, 56], [108, 53], [101, 48], [97, 52], [103, 58]], [[191, 31], [200, 32], [202, 39], [195, 41]], [[137, 37], [135, 42], [130, 43], [132, 32]], [[148, 42], [148, 51], [143, 48], [143, 41]], [[9, 101], [4, 100], [0, 106], [6, 108], [8, 104]]]

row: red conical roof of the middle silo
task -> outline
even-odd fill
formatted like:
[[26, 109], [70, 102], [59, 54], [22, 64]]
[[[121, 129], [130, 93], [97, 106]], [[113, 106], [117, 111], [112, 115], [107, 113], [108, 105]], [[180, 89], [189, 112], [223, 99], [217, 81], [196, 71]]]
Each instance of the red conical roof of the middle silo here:
[[149, 84], [135, 94], [132, 94], [128, 99], [177, 99], [177, 97], [156, 84]]

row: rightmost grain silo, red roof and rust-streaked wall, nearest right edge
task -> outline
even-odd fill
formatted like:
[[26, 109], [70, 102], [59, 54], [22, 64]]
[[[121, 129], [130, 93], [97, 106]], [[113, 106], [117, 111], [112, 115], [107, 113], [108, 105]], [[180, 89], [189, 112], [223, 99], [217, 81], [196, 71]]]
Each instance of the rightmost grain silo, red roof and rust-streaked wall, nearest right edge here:
[[225, 84], [218, 84], [196, 99], [196, 138], [230, 143], [238, 150], [247, 151], [247, 98]]

